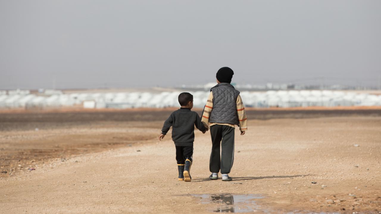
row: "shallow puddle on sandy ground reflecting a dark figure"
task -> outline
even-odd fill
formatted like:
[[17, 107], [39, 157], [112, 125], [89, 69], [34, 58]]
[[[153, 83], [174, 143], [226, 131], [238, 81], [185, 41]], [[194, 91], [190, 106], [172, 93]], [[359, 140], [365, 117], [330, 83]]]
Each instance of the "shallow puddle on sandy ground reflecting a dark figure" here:
[[[259, 209], [259, 205], [256, 204], [254, 199], [264, 198], [259, 194], [247, 194], [247, 195], [192, 195], [194, 197], [201, 198], [203, 204], [217, 204], [217, 208], [213, 209], [214, 212], [253, 212]], [[266, 210], [261, 210], [267, 212]]]

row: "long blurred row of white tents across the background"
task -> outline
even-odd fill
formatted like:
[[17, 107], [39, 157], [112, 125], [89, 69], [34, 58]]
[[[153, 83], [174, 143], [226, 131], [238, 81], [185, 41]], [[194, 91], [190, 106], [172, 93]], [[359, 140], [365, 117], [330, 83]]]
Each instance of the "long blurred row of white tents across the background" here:
[[[59, 108], [83, 105], [85, 108], [178, 107], [176, 92], [162, 93], [72, 93], [37, 96], [35, 94], [0, 95], [0, 108]], [[192, 92], [194, 106], [203, 107], [209, 91]], [[381, 95], [344, 91], [266, 91], [240, 93], [247, 107], [375, 106]]]

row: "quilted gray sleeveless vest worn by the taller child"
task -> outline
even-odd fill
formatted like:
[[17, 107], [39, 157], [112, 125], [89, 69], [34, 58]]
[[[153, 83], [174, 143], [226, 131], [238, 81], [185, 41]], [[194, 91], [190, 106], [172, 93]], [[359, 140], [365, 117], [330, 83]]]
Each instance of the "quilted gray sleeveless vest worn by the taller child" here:
[[210, 91], [213, 92], [213, 110], [209, 122], [239, 125], [236, 104], [239, 91], [229, 83], [219, 83]]

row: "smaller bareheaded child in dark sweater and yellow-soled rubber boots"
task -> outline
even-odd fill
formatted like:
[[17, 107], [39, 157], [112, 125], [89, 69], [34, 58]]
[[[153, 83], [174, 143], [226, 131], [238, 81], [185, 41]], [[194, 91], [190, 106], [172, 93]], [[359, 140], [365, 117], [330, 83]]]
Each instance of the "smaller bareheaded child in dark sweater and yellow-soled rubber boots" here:
[[189, 182], [192, 180], [190, 171], [193, 156], [194, 126], [205, 134], [208, 128], [205, 127], [200, 116], [192, 112], [193, 95], [187, 92], [179, 95], [181, 108], [171, 113], [171, 116], [164, 122], [162, 134], [159, 140], [163, 139], [172, 126], [172, 140], [176, 147], [176, 161], [179, 170], [179, 180]]

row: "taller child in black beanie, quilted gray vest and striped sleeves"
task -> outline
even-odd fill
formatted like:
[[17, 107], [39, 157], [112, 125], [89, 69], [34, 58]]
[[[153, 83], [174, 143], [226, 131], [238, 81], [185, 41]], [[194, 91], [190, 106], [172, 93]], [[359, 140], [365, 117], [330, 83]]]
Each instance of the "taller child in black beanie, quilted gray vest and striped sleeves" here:
[[210, 89], [202, 114], [202, 123], [206, 128], [210, 125], [212, 139], [209, 162], [209, 169], [212, 172], [209, 176], [211, 180], [218, 179], [220, 169], [223, 181], [232, 180], [228, 174], [234, 161], [234, 126], [239, 126], [241, 135], [245, 134], [247, 130], [247, 117], [241, 96], [239, 91], [230, 84], [233, 74], [233, 70], [229, 67], [222, 67], [218, 70], [216, 74], [218, 84]]

